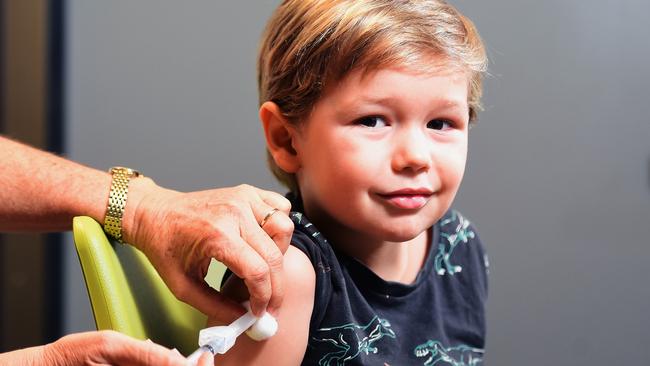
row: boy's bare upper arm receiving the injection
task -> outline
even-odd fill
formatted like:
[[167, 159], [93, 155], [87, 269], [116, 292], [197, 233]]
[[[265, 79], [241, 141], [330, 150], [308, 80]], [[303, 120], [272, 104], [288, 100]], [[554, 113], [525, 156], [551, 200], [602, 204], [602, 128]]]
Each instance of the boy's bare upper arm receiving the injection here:
[[[284, 283], [284, 301], [274, 314], [278, 332], [261, 342], [242, 334], [225, 355], [215, 359], [215, 365], [300, 365], [307, 348], [316, 275], [307, 256], [293, 246], [284, 255]], [[238, 291], [235, 287], [239, 286], [224, 287], [223, 291], [241, 296], [230, 293]]]

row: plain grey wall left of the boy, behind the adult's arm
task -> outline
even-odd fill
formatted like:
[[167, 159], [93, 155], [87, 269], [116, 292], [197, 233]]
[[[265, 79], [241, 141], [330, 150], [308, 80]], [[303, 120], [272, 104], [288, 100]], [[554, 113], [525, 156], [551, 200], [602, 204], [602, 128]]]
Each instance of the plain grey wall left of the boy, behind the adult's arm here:
[[[182, 191], [279, 190], [264, 158], [255, 55], [277, 1], [70, 0], [66, 150]], [[94, 321], [70, 237], [66, 332]]]

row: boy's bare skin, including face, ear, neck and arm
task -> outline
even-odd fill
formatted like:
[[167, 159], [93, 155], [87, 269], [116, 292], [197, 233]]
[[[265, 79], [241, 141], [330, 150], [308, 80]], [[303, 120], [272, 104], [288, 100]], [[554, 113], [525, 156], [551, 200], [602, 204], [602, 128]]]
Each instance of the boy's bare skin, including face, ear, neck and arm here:
[[[305, 213], [328, 241], [385, 280], [411, 283], [426, 259], [429, 229], [463, 177], [467, 93], [467, 76], [458, 70], [387, 68], [348, 75], [298, 127], [273, 102], [262, 105], [260, 117], [271, 155], [296, 175]], [[284, 275], [278, 334], [262, 342], [240, 337], [219, 365], [300, 364], [314, 268], [290, 247]], [[233, 284], [226, 291], [241, 289]]]

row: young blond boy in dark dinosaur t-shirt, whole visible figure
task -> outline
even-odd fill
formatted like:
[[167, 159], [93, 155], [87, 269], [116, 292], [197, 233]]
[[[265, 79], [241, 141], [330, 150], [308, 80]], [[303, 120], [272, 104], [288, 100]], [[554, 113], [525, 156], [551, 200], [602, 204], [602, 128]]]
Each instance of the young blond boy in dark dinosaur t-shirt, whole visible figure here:
[[485, 256], [449, 207], [486, 62], [442, 0], [279, 6], [258, 81], [294, 210], [285, 300], [274, 337], [240, 337], [217, 364], [482, 364]]

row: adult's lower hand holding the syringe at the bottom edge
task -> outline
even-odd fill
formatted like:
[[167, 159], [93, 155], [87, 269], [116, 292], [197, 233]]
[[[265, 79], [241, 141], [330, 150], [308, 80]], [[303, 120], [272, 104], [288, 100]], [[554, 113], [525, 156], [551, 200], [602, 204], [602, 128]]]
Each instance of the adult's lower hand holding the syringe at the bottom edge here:
[[[0, 364], [188, 366], [187, 360], [178, 351], [108, 330], [71, 334], [45, 346], [0, 354]], [[199, 366], [213, 364], [209, 354], [198, 362]]]

